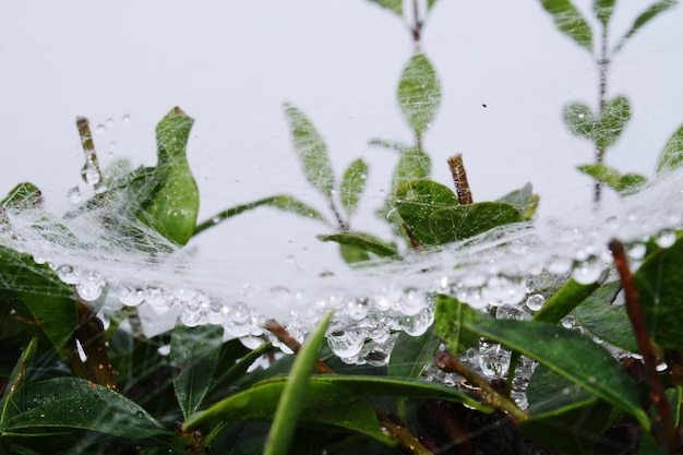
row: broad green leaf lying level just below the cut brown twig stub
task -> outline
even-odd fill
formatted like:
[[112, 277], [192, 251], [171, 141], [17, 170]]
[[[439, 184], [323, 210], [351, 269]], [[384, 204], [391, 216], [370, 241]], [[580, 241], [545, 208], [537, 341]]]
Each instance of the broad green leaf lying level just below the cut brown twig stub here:
[[441, 208], [429, 215], [436, 244], [464, 240], [499, 226], [522, 223], [522, 214], [505, 202], [478, 202]]

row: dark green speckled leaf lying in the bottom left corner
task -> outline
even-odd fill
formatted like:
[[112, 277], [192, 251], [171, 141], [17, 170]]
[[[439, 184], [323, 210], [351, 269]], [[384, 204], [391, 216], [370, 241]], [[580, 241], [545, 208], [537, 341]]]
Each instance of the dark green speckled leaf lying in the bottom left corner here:
[[154, 418], [123, 395], [79, 378], [53, 378], [29, 384], [26, 408], [0, 423], [2, 432], [36, 429], [89, 430], [127, 440], [173, 440]]

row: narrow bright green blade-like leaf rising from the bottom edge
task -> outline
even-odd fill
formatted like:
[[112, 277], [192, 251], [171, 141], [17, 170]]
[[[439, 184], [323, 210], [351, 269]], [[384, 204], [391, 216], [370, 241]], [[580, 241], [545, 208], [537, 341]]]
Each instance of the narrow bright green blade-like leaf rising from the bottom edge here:
[[325, 339], [332, 314], [332, 311], [328, 312], [315, 331], [309, 334], [301, 350], [297, 354], [273, 418], [273, 426], [263, 451], [264, 455], [287, 455], [289, 451], [297, 421], [303, 411], [309, 378], [313, 373], [317, 351]]

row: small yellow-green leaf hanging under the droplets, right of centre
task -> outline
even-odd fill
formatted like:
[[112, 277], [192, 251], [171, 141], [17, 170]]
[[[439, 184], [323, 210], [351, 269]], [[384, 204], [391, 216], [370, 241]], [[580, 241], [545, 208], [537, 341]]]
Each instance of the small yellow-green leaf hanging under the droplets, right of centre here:
[[466, 324], [480, 319], [481, 312], [455, 297], [443, 294], [436, 296], [434, 327], [452, 355], [457, 356], [479, 342], [479, 334], [467, 328]]

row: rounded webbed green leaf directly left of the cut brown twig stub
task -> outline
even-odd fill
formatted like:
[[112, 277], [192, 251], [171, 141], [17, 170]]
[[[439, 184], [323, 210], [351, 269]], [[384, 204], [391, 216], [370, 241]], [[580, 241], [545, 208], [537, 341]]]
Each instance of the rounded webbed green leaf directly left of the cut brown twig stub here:
[[423, 246], [442, 244], [430, 227], [430, 215], [440, 208], [458, 205], [450, 188], [432, 180], [411, 180], [396, 190], [398, 214]]

